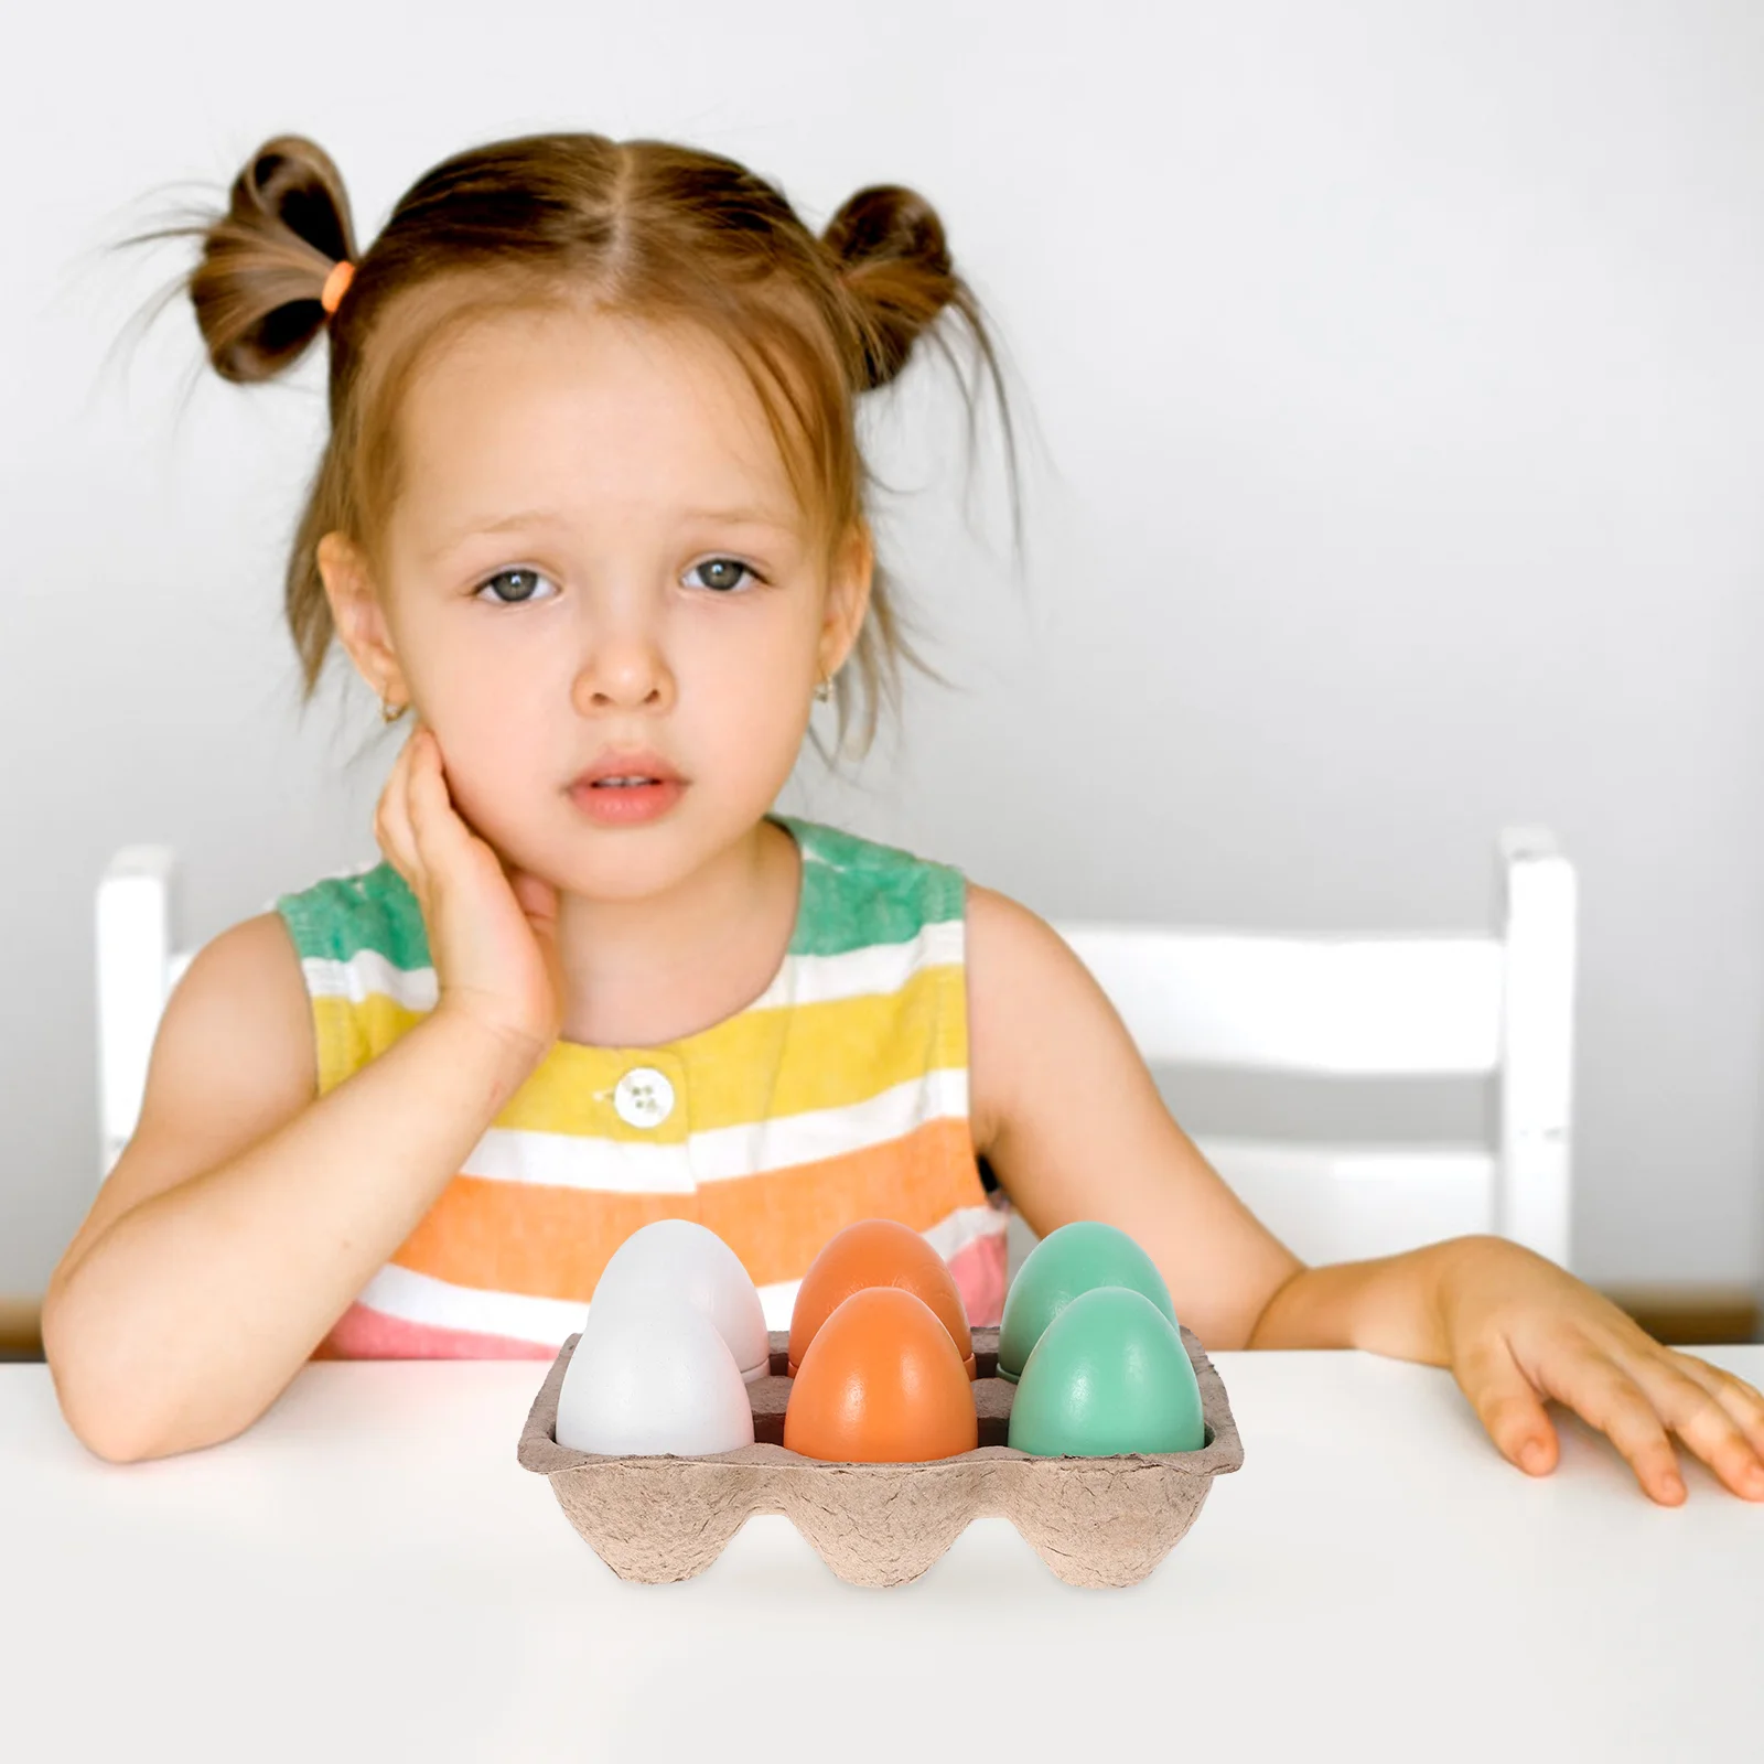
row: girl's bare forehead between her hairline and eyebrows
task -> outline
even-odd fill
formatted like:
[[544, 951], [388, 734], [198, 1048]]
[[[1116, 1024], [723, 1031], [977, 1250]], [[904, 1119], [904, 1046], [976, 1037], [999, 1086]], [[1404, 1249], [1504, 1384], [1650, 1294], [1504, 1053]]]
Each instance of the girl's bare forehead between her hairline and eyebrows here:
[[400, 501], [418, 520], [549, 490], [797, 524], [746, 372], [686, 325], [572, 309], [475, 319], [423, 362], [397, 427]]

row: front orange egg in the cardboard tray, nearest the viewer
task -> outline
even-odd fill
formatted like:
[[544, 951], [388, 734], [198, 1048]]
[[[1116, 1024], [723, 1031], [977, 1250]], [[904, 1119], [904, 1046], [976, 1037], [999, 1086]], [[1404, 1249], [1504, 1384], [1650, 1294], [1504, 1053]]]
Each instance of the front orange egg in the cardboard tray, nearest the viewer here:
[[931, 1307], [898, 1286], [852, 1293], [815, 1332], [783, 1443], [838, 1464], [919, 1464], [981, 1443], [974, 1387]]

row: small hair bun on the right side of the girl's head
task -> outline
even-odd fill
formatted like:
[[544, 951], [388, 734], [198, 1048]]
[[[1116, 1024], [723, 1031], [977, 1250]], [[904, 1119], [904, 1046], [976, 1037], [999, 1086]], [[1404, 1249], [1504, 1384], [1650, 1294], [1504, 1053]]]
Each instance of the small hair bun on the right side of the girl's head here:
[[873, 183], [840, 205], [822, 235], [861, 309], [861, 388], [887, 385], [960, 282], [937, 210], [900, 183]]

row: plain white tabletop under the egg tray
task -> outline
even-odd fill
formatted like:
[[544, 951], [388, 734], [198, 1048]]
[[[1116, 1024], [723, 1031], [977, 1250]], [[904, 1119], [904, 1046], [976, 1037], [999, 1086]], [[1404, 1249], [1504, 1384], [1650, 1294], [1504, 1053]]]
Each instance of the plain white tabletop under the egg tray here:
[[[1764, 1348], [1702, 1351], [1764, 1383]], [[129, 1468], [0, 1367], [0, 1757], [1764, 1755], [1764, 1505], [1681, 1452], [1655, 1506], [1563, 1411], [1533, 1482], [1443, 1371], [1214, 1364], [1244, 1468], [1120, 1591], [1004, 1519], [891, 1591], [780, 1517], [621, 1582], [515, 1464], [540, 1364], [314, 1365], [245, 1438]]]

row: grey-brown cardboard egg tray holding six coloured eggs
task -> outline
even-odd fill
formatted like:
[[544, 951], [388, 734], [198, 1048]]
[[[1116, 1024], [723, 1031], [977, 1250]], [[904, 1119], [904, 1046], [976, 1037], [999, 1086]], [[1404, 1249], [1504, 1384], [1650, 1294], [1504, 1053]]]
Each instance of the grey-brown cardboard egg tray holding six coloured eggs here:
[[785, 1514], [854, 1586], [924, 1573], [970, 1519], [1011, 1521], [1073, 1586], [1143, 1581], [1194, 1524], [1212, 1478], [1244, 1462], [1224, 1385], [1191, 1330], [1201, 1394], [1198, 1452], [1032, 1457], [1005, 1445], [1016, 1387], [998, 1378], [998, 1330], [974, 1330], [979, 1448], [924, 1464], [831, 1464], [787, 1452], [789, 1334], [771, 1332], [771, 1374], [748, 1385], [753, 1445], [714, 1457], [600, 1457], [557, 1445], [557, 1392], [580, 1337], [557, 1351], [520, 1434], [520, 1464], [550, 1478], [570, 1524], [624, 1581], [688, 1581], [751, 1514]]

